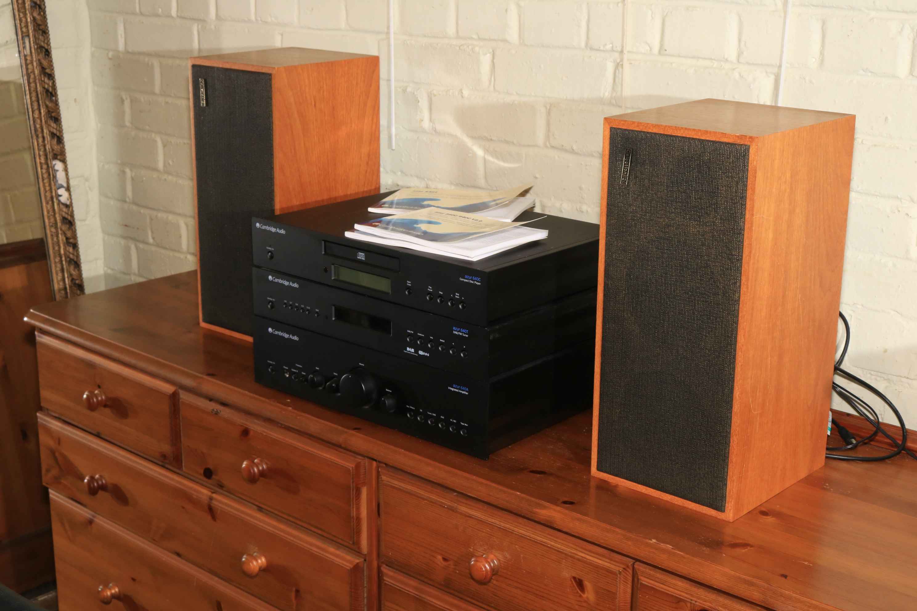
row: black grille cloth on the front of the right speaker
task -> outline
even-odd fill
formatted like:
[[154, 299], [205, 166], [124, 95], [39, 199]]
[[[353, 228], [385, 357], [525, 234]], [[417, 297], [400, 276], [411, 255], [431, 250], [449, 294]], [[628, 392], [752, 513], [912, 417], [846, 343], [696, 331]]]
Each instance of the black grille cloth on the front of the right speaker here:
[[609, 145], [597, 468], [724, 511], [748, 147]]

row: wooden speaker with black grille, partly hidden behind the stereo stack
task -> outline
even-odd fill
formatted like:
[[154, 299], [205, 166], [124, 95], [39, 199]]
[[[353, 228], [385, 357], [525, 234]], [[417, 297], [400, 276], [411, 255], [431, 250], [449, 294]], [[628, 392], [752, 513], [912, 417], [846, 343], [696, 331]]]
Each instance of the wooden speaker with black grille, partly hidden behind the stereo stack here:
[[191, 58], [200, 318], [250, 339], [251, 217], [379, 192], [379, 58]]

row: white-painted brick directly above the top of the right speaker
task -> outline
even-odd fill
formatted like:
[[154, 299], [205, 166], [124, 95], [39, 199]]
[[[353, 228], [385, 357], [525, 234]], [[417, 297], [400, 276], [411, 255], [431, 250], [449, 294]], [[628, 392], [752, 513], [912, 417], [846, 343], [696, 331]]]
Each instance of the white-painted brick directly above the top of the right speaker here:
[[695, 68], [634, 60], [629, 67], [628, 108], [652, 108], [714, 97], [773, 104], [775, 75], [764, 69]]

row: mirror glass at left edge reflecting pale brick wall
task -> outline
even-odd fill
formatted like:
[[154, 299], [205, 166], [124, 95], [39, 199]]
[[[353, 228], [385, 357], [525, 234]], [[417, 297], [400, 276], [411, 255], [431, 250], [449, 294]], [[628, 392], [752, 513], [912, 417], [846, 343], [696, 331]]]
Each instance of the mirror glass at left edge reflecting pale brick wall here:
[[44, 237], [13, 8], [0, 4], [0, 244]]

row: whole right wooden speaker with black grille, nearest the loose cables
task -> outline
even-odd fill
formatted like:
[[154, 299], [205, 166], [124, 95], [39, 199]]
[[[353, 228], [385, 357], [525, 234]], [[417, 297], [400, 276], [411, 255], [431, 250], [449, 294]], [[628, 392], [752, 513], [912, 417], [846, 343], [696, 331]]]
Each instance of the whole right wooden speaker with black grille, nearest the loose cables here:
[[592, 475], [734, 520], [824, 464], [854, 120], [605, 119]]

